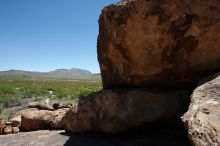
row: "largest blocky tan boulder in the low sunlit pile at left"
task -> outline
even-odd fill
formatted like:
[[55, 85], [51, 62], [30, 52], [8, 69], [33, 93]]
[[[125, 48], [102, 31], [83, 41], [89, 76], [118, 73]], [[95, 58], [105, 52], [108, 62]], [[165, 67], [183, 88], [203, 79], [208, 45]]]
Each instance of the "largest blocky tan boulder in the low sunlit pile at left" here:
[[29, 110], [21, 116], [21, 126], [25, 131], [42, 129], [62, 129], [61, 119], [69, 109]]

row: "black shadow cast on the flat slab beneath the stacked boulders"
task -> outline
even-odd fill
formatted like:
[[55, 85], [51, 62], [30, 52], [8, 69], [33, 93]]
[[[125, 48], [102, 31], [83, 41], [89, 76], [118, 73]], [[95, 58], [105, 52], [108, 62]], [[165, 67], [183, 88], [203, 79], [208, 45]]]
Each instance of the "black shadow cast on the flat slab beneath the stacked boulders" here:
[[[63, 133], [64, 134], [64, 133]], [[120, 134], [72, 133], [64, 146], [190, 146], [181, 123], [148, 125]]]

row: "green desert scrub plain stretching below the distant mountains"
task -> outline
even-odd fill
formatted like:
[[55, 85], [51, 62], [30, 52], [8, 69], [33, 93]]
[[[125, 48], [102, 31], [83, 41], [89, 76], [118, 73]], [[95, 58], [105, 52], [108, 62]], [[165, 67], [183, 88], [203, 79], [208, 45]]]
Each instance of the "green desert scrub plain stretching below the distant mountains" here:
[[0, 116], [9, 108], [46, 98], [74, 100], [101, 89], [100, 80], [0, 79]]

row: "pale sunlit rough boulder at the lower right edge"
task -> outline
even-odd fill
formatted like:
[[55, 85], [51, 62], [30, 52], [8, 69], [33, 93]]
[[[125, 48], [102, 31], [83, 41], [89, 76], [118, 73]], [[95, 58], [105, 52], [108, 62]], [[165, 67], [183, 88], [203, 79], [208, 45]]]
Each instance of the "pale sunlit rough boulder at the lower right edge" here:
[[220, 73], [206, 81], [191, 95], [189, 110], [182, 120], [195, 146], [219, 146]]

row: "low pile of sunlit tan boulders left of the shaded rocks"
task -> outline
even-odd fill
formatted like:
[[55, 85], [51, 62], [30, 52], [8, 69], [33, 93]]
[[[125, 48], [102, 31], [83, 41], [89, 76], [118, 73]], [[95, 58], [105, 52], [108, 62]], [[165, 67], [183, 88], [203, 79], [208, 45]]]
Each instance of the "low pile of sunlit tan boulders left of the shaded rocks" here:
[[[57, 105], [59, 105], [57, 107]], [[63, 129], [61, 119], [72, 104], [54, 103], [52, 106], [45, 102], [31, 102], [28, 109], [12, 113], [8, 121], [0, 119], [0, 135], [43, 129]]]

